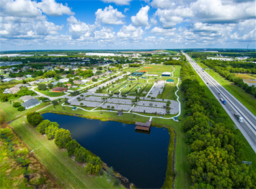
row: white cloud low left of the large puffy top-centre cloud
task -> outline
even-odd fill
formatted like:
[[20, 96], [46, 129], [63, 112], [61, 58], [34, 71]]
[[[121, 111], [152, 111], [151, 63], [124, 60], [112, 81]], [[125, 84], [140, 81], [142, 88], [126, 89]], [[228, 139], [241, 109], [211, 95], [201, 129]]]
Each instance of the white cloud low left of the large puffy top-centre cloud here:
[[95, 24], [86, 24], [85, 22], [81, 22], [80, 20], [76, 20], [74, 16], [70, 16], [68, 20], [69, 25], [69, 33], [72, 36], [72, 39], [86, 39], [88, 37], [94, 37], [94, 31], [96, 31]]

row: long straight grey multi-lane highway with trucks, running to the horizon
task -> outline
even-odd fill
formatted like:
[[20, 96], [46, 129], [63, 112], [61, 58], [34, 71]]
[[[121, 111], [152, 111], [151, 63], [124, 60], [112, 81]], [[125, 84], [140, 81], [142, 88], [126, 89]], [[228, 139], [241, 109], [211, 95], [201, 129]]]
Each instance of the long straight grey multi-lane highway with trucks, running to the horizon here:
[[[212, 76], [210, 76], [206, 70], [202, 69], [193, 61], [188, 54], [183, 53], [190, 65], [192, 65], [193, 69], [197, 71], [200, 78], [205, 82], [206, 86], [212, 91], [212, 94], [218, 99], [221, 103], [227, 114], [229, 114], [230, 118], [236, 124], [237, 128], [241, 131], [242, 135], [246, 138], [248, 143], [251, 145], [253, 150], [256, 153], [256, 116], [254, 116], [251, 111], [249, 111], [238, 99], [233, 97], [221, 84], [216, 82]], [[241, 89], [242, 90], [242, 89]], [[220, 98], [223, 98], [226, 101], [226, 105], [224, 105]], [[234, 114], [237, 113], [242, 116], [244, 122], [240, 123]]]

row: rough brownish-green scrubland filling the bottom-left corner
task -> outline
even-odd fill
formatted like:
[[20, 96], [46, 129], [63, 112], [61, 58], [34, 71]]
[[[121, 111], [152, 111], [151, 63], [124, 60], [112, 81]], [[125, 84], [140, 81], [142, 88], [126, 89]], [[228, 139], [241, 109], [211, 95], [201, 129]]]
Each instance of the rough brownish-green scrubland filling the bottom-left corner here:
[[[1, 118], [1, 116], [0, 116]], [[11, 128], [0, 128], [0, 188], [61, 188]], [[28, 165], [27, 169], [25, 165]], [[27, 178], [29, 177], [29, 182]]]

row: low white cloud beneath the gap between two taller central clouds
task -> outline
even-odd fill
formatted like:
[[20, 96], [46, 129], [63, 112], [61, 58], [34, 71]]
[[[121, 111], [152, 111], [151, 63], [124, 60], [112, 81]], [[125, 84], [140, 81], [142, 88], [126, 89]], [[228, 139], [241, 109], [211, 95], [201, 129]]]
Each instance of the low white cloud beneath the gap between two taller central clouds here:
[[142, 39], [143, 34], [144, 33], [141, 27], [137, 28], [130, 24], [128, 26], [124, 25], [117, 33], [117, 37], [123, 39], [130, 39], [131, 41], [137, 41]]

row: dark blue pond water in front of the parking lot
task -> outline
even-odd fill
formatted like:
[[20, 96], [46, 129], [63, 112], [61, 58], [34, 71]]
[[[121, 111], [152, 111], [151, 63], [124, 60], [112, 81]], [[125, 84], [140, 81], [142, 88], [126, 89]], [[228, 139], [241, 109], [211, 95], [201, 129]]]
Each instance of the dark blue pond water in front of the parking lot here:
[[52, 113], [42, 116], [68, 129], [73, 139], [138, 188], [161, 188], [165, 182], [170, 139], [167, 129], [152, 127], [147, 135], [135, 132], [134, 124]]

